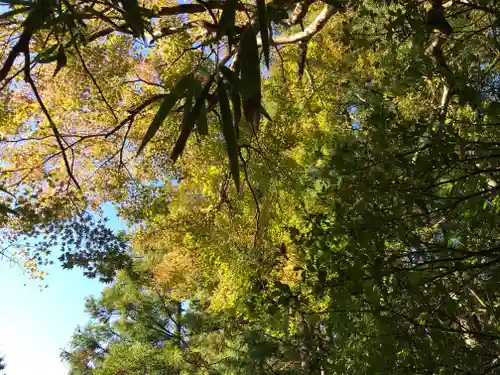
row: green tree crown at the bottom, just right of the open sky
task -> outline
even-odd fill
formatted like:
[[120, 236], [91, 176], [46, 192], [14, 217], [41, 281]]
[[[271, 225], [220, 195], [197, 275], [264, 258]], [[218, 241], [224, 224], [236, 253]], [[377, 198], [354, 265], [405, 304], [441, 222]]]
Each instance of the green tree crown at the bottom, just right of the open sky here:
[[224, 366], [231, 352], [223, 350], [220, 317], [205, 315], [196, 301], [177, 306], [144, 277], [122, 273], [99, 299], [88, 299], [93, 321], [77, 329], [62, 358], [72, 374], [201, 374]]

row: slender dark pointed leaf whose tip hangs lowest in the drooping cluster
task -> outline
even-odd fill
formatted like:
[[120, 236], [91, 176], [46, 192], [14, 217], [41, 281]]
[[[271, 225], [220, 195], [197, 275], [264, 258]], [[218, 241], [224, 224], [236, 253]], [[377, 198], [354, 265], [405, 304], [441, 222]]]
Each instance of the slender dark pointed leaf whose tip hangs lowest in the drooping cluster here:
[[240, 170], [238, 160], [238, 141], [236, 139], [236, 132], [233, 126], [233, 115], [229, 107], [229, 100], [227, 97], [226, 87], [224, 81], [219, 82], [218, 87], [219, 107], [222, 119], [222, 133], [227, 146], [227, 156], [229, 158], [229, 170], [233, 176], [236, 190], [240, 188]]

